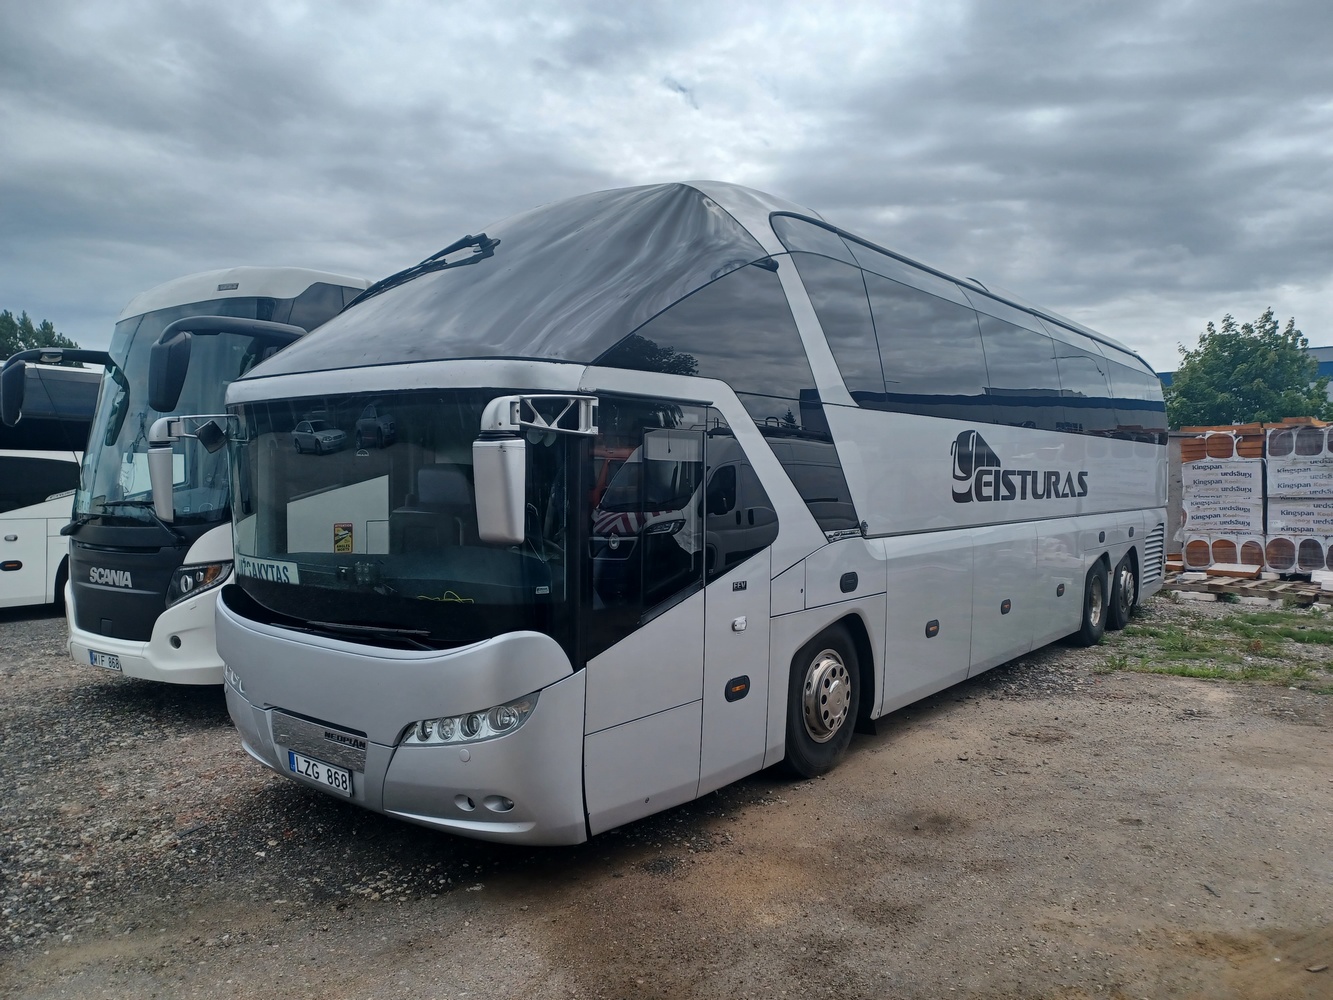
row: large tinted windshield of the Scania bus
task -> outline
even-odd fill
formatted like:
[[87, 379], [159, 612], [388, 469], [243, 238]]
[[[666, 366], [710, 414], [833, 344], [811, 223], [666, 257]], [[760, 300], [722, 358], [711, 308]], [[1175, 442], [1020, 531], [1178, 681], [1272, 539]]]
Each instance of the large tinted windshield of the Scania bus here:
[[[259, 316], [272, 300], [255, 297], [191, 303], [133, 316], [116, 324], [111, 340], [113, 365], [103, 375], [88, 448], [75, 496], [76, 516], [104, 523], [149, 523], [148, 429], [160, 416], [148, 405], [148, 357], [163, 329], [185, 316]], [[189, 375], [173, 413], [220, 413], [227, 384], [259, 363], [261, 348], [251, 337], [197, 337]], [[209, 455], [193, 439], [175, 444], [173, 499], [177, 524], [212, 524], [231, 516], [227, 456]]]

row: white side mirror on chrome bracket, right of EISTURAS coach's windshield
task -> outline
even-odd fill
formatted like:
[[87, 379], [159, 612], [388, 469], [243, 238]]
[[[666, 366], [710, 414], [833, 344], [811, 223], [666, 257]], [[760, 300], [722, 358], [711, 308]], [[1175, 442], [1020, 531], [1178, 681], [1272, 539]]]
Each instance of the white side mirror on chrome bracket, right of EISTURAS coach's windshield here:
[[593, 396], [497, 396], [481, 413], [472, 443], [477, 537], [492, 545], [521, 545], [527, 537], [529, 431], [593, 436]]

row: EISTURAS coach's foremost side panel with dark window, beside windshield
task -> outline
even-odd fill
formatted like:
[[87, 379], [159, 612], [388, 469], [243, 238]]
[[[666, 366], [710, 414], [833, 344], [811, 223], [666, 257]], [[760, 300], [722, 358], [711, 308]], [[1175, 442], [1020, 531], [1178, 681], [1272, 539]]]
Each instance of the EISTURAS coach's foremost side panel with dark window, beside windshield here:
[[599, 833], [698, 791], [704, 688], [702, 408], [600, 400], [591, 511], [584, 796]]

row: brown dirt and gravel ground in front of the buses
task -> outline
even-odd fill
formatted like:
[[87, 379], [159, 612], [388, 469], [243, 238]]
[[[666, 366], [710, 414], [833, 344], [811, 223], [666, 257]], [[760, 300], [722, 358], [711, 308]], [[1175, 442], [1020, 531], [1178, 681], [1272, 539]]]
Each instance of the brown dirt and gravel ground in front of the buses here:
[[1333, 997], [1310, 691], [1054, 647], [824, 779], [516, 849], [272, 776], [220, 689], [63, 644], [0, 617], [3, 996]]

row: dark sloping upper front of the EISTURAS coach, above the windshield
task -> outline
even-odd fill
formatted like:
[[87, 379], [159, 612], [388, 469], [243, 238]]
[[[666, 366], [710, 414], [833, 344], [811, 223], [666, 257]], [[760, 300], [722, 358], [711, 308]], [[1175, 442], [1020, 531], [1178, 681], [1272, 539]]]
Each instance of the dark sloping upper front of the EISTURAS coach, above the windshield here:
[[[600, 191], [485, 232], [495, 256], [357, 303], [252, 376], [456, 357], [591, 363], [672, 303], [765, 256], [688, 184]], [[441, 245], [463, 233], [443, 233]]]

